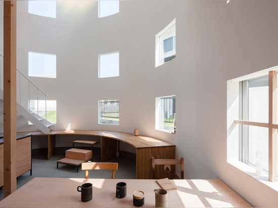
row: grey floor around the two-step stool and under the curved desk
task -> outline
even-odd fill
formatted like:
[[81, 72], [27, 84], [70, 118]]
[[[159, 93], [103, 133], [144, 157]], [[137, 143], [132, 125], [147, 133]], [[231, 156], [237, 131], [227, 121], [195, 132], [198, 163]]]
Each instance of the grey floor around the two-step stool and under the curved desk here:
[[[70, 147], [69, 147], [70, 148]], [[32, 175], [30, 171], [23, 174], [17, 180], [17, 188], [20, 188], [25, 183], [35, 177], [49, 177], [49, 178], [84, 178], [84, 171], [78, 170], [76, 172], [75, 166], [59, 164], [57, 169], [57, 160], [65, 157], [65, 150], [67, 148], [56, 149], [56, 153], [50, 160], [47, 160], [46, 152], [32, 153]], [[92, 161], [100, 162], [101, 151], [100, 148], [94, 148], [92, 153]], [[118, 170], [115, 172], [115, 178], [134, 179], [136, 178], [136, 160], [135, 155], [120, 154], [120, 157], [114, 158], [108, 162], [119, 163]], [[89, 171], [89, 178], [110, 178], [111, 171], [94, 170]], [[4, 187], [5, 188], [5, 187]], [[0, 189], [0, 200], [4, 198], [4, 190]]]

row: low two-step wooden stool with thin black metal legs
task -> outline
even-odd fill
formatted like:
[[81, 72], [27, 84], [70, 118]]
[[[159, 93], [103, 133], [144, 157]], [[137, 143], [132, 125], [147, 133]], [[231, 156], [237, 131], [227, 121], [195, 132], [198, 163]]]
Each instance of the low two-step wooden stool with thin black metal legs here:
[[82, 163], [90, 160], [91, 158], [92, 158], [91, 150], [71, 148], [66, 150], [66, 158], [57, 161], [57, 169], [58, 169], [58, 164], [62, 163], [66, 165], [76, 166], [76, 172], [78, 173], [78, 167]]

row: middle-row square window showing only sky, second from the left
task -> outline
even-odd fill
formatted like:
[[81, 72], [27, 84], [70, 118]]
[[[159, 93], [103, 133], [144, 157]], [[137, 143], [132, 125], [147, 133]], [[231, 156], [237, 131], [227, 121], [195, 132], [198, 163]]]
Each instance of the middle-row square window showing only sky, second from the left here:
[[99, 78], [119, 76], [119, 52], [99, 55]]

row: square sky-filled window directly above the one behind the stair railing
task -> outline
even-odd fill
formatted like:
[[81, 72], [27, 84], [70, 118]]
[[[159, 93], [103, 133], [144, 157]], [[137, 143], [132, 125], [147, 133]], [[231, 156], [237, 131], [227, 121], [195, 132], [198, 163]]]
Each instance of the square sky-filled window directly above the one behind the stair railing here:
[[28, 76], [56, 78], [56, 55], [29, 52]]

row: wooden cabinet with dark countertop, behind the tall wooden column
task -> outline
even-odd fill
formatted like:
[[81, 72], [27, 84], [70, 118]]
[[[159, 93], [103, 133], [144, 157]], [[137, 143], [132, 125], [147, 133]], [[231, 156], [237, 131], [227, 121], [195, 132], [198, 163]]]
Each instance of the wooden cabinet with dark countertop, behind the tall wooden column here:
[[[32, 175], [31, 158], [31, 135], [18, 135], [16, 142], [17, 174], [20, 175], [30, 171]], [[0, 144], [0, 187], [4, 185], [4, 144]]]

